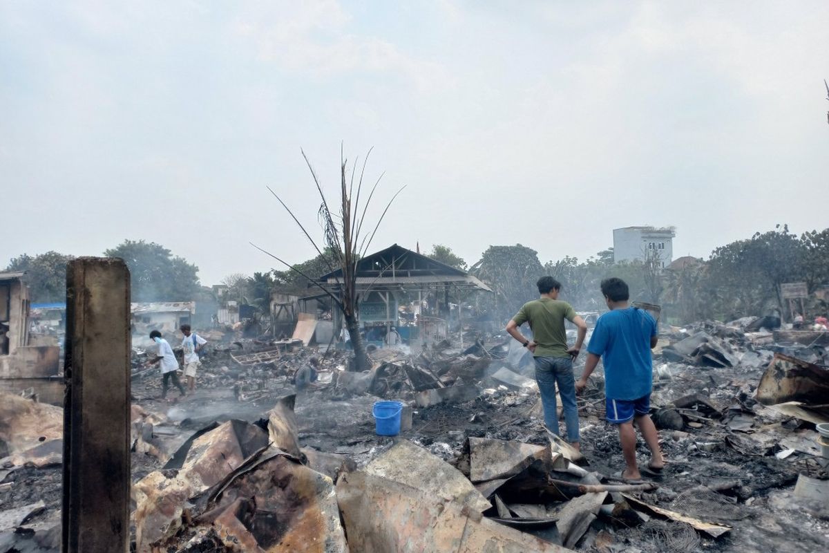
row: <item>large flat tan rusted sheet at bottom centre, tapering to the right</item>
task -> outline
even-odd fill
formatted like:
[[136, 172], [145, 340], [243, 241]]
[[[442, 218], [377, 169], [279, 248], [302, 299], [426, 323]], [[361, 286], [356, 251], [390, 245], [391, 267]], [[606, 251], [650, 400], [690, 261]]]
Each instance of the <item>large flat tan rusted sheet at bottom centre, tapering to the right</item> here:
[[337, 502], [349, 546], [361, 553], [571, 551], [502, 526], [431, 489], [367, 473], [344, 474], [337, 482]]

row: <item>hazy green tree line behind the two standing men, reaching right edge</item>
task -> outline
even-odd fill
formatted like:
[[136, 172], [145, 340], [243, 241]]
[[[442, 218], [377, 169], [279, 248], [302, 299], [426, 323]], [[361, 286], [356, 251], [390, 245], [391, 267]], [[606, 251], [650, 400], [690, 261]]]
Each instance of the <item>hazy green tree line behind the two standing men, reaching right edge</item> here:
[[[616, 276], [628, 283], [633, 300], [661, 304], [665, 316], [676, 323], [728, 321], [774, 310], [785, 317], [788, 306], [780, 284], [805, 282], [810, 294], [829, 284], [829, 229], [798, 236], [788, 226], [777, 226], [720, 246], [708, 260], [683, 258], [665, 269], [647, 256], [613, 263], [612, 248], [584, 261], [565, 256], [542, 266], [536, 251], [525, 246], [491, 246], [471, 272], [492, 287], [493, 308], [501, 318], [536, 296], [539, 274], [560, 280], [560, 298], [580, 311], [604, 310], [599, 284]], [[827, 305], [812, 297], [806, 308], [812, 314], [826, 313]]]

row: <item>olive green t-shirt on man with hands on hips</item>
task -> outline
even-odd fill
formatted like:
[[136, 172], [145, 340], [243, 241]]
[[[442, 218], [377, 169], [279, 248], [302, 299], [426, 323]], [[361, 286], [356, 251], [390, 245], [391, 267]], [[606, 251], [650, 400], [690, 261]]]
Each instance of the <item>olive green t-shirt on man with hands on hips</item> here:
[[572, 323], [575, 317], [570, 303], [539, 298], [525, 303], [512, 320], [519, 327], [530, 323], [533, 340], [538, 344], [535, 357], [570, 357], [567, 353], [565, 319]]

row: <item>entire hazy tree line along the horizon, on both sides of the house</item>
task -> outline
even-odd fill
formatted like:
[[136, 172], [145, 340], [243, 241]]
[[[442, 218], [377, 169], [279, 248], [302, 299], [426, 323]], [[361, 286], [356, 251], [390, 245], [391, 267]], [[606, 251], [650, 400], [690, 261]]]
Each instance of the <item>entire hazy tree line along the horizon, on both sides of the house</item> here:
[[[183, 301], [202, 293], [196, 265], [172, 255], [162, 245], [124, 240], [104, 255], [126, 261], [132, 274], [133, 301]], [[647, 259], [613, 263], [612, 248], [583, 261], [565, 255], [546, 264], [541, 264], [536, 250], [521, 244], [489, 246], [471, 266], [446, 245], [434, 245], [427, 255], [468, 270], [486, 283], [493, 293], [481, 294], [477, 303], [497, 319], [511, 317], [522, 303], [535, 298], [536, 280], [543, 274], [560, 280], [560, 297], [579, 311], [604, 310], [599, 283], [617, 276], [630, 285], [632, 299], [660, 303], [665, 316], [675, 323], [725, 321], [774, 309], [785, 314], [788, 308], [780, 296], [780, 284], [806, 282], [809, 293], [829, 284], [829, 229], [795, 235], [785, 225], [720, 246], [707, 260], [682, 258], [665, 269]], [[33, 303], [63, 301], [65, 265], [71, 259], [71, 255], [55, 251], [23, 254], [12, 259], [7, 270], [27, 271]], [[329, 272], [334, 260], [331, 251], [323, 250], [296, 267], [301, 274], [317, 279]], [[231, 298], [267, 313], [274, 289], [308, 293], [310, 281], [301, 274], [290, 269], [270, 269], [253, 276], [229, 274], [223, 284]], [[450, 300], [458, 298], [451, 296]], [[812, 298], [807, 310], [825, 313], [827, 306]]]

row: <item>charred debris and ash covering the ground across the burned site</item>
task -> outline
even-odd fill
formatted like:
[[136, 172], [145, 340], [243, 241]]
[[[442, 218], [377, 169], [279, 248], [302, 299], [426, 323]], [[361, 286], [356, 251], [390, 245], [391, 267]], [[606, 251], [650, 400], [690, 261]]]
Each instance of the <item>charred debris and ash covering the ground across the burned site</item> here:
[[[374, 348], [356, 372], [346, 350], [211, 329], [196, 393], [170, 401], [135, 348], [132, 547], [818, 551], [826, 343], [751, 323], [662, 329], [652, 417], [669, 463], [642, 484], [618, 478], [601, 378], [579, 396], [579, 454], [544, 428], [531, 359], [505, 335]], [[376, 435], [378, 400], [404, 405], [400, 435]], [[57, 551], [62, 410], [4, 395], [0, 411], [0, 551]]]

